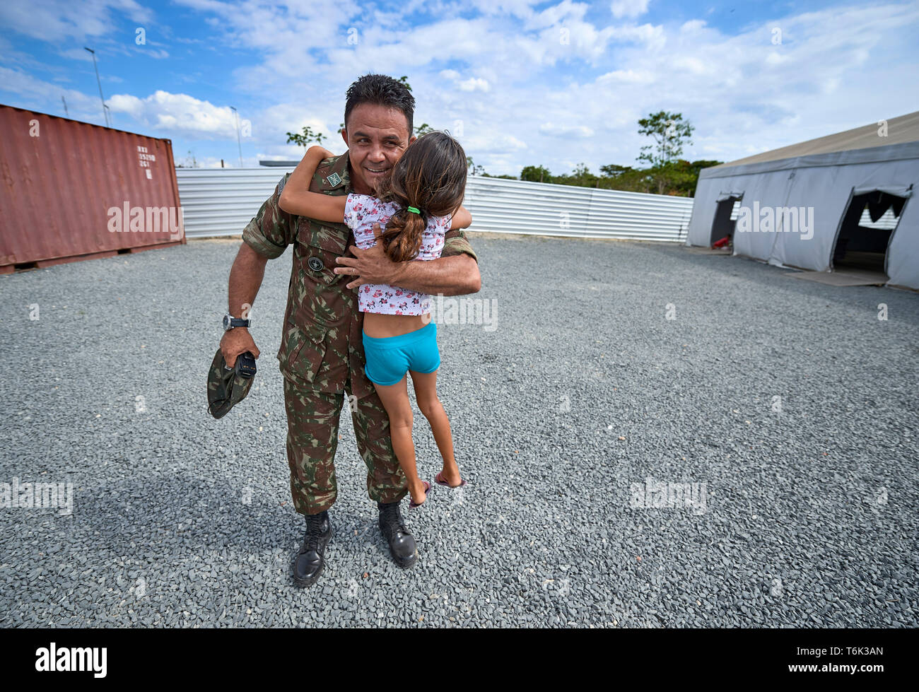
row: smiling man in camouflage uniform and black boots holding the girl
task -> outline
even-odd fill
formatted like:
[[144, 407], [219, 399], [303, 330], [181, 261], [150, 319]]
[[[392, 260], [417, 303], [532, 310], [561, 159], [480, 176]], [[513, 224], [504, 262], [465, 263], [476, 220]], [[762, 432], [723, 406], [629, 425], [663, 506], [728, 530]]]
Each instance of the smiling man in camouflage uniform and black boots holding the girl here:
[[[362, 82], [365, 83], [363, 90], [358, 88], [356, 91]], [[357, 104], [352, 103], [352, 92], [358, 96]], [[404, 129], [407, 146], [411, 141], [408, 134], [412, 131], [412, 124], [411, 108], [406, 109], [405, 103], [414, 107], [414, 98], [390, 77], [367, 75], [352, 85], [348, 90], [346, 123], [349, 110], [361, 108], [359, 113], [362, 115], [357, 121], [368, 125], [363, 130], [374, 130], [376, 125], [380, 125], [377, 130], [381, 133], [389, 131], [391, 136], [392, 113], [400, 115], [387, 102], [392, 92], [397, 100], [404, 99], [402, 110], [405, 114], [403, 121], [407, 121], [407, 129]], [[359, 102], [359, 96], [368, 94], [370, 97], [366, 103]], [[408, 95], [407, 99], [405, 95]], [[400, 125], [398, 120], [396, 118], [395, 122]], [[348, 123], [348, 131], [353, 131], [351, 123]], [[369, 160], [366, 152], [360, 153], [362, 150], [354, 139], [352, 135], [352, 142], [348, 142], [348, 153], [326, 159], [319, 165], [310, 187], [313, 192], [346, 195], [352, 191], [352, 181], [355, 178], [353, 171], [356, 167], [354, 159], [356, 156], [364, 157], [358, 164], [360, 166], [366, 166]], [[403, 149], [395, 153], [371, 153], [369, 157], [379, 158], [382, 162], [385, 156], [394, 163]], [[363, 173], [363, 170], [360, 172]], [[240, 255], [237, 255], [230, 278], [230, 311], [234, 315], [238, 314], [233, 311], [239, 310], [245, 302], [251, 304], [255, 300], [255, 292], [261, 284], [267, 259], [282, 255], [288, 245], [293, 245], [293, 267], [278, 361], [284, 375], [284, 400], [288, 416], [290, 493], [294, 508], [307, 521], [307, 535], [294, 561], [293, 576], [297, 584], [305, 585], [319, 578], [323, 568], [324, 547], [331, 536], [327, 510], [335, 503], [334, 459], [338, 442], [338, 420], [345, 393], [354, 422], [357, 449], [367, 465], [367, 490], [370, 499], [376, 501], [380, 508], [380, 529], [389, 540], [392, 556], [400, 566], [407, 567], [417, 560], [417, 552], [414, 538], [405, 528], [399, 513], [399, 502], [408, 492], [407, 482], [392, 450], [389, 417], [372, 383], [364, 374], [365, 358], [361, 336], [363, 313], [357, 309], [357, 291], [349, 288], [357, 283], [391, 281], [378, 280], [380, 277], [371, 280], [365, 276], [353, 280], [354, 276], [347, 276], [348, 269], [341, 267], [338, 272], [343, 273], [336, 273], [335, 267], [339, 267], [336, 260], [347, 255], [355, 246], [350, 230], [344, 223], [313, 221], [291, 216], [281, 210], [278, 199], [288, 178], [289, 174], [281, 179], [274, 194], [245, 227], [244, 245]], [[361, 179], [359, 182], [366, 190], [367, 181]], [[367, 194], [365, 190], [355, 191]], [[254, 254], [248, 252], [247, 248], [254, 251]], [[360, 252], [358, 249], [357, 253]], [[437, 271], [434, 267], [436, 263], [449, 263], [459, 255], [476, 259], [465, 233], [451, 231], [446, 236], [441, 259], [411, 264], [428, 265]], [[384, 255], [380, 253], [380, 256]], [[351, 262], [365, 270], [369, 266], [353, 260]], [[478, 290], [478, 269], [476, 267], [474, 276], [471, 276], [470, 266], [476, 267], [475, 262], [441, 265], [441, 271], [443, 268], [455, 269], [454, 276], [458, 278], [453, 281], [452, 287], [449, 286], [449, 278], [448, 283], [444, 283], [444, 275], [441, 273], [441, 280], [432, 278], [426, 284], [419, 274], [417, 276], [421, 283], [416, 286], [406, 285], [405, 288], [445, 294], [473, 292]], [[426, 268], [413, 267], [419, 270]], [[350, 273], [355, 274], [356, 271], [350, 270]], [[425, 289], [425, 286], [430, 288]], [[235, 356], [245, 350], [258, 355], [255, 343], [247, 333], [231, 338], [230, 335], [237, 331], [244, 329], [227, 332], [221, 341], [221, 348], [230, 366]]]

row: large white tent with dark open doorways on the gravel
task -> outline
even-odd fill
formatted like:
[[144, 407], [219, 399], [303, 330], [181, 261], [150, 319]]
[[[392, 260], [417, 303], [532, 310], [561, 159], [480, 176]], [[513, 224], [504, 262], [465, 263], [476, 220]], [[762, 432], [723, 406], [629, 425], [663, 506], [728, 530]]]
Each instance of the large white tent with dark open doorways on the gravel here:
[[919, 111], [702, 170], [686, 244], [919, 289], [917, 184]]

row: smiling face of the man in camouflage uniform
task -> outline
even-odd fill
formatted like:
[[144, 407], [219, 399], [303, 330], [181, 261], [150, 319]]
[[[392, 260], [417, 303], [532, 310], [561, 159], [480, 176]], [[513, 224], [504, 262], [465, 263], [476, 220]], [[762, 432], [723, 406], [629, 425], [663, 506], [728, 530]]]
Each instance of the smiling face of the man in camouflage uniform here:
[[342, 138], [351, 161], [351, 185], [358, 194], [372, 195], [414, 142], [408, 120], [399, 108], [362, 103], [351, 111], [345, 127]]

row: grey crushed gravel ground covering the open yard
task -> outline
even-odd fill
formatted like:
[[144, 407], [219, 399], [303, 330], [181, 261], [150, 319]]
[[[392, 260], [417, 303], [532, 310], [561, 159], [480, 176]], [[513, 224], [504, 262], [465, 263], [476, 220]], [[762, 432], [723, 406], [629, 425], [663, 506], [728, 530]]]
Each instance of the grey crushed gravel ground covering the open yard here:
[[[256, 301], [255, 388], [220, 421], [204, 381], [238, 240], [0, 277], [0, 482], [73, 483], [71, 514], [0, 510], [0, 625], [916, 626], [919, 295], [675, 245], [472, 243], [496, 328], [438, 328], [470, 485], [403, 502], [421, 558], [400, 570], [343, 415], [306, 590], [274, 359], [289, 253]], [[432, 478], [421, 414], [415, 442]], [[646, 479], [698, 483], [695, 504], [655, 506]]]

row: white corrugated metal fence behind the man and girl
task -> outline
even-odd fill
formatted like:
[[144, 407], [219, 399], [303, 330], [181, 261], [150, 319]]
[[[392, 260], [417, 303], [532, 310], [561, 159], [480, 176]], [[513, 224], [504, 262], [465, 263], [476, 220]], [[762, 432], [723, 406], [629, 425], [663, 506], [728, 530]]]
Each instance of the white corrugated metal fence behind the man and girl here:
[[[189, 238], [243, 233], [292, 169], [177, 168]], [[692, 198], [470, 176], [471, 231], [683, 242]]]

